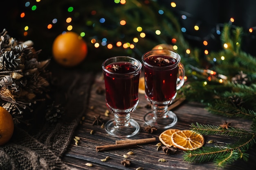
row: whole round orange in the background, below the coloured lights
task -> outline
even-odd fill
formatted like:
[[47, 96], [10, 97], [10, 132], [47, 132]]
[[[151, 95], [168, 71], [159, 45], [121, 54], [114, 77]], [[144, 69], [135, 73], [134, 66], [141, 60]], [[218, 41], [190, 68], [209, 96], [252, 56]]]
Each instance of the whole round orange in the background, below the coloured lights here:
[[58, 35], [52, 45], [55, 61], [66, 67], [73, 67], [81, 63], [87, 52], [85, 41], [72, 31]]

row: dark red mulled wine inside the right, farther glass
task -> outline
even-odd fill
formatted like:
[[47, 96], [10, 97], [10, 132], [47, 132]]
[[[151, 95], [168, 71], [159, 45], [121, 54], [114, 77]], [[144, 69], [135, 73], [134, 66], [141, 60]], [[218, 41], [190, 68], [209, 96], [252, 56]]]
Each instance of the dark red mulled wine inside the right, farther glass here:
[[[162, 61], [168, 59], [168, 61]], [[176, 94], [178, 65], [172, 69], [166, 66], [177, 63], [177, 60], [168, 55], [152, 55], [144, 59], [150, 65], [158, 66], [152, 68], [144, 64], [145, 93], [153, 101], [164, 102], [172, 100]]]

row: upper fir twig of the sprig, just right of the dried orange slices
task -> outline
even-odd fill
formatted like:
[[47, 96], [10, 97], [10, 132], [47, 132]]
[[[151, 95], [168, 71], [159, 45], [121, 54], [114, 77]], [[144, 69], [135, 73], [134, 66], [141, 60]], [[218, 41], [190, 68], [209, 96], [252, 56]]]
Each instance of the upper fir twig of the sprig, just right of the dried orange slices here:
[[229, 127], [229, 129], [223, 129], [220, 126], [210, 125], [210, 124], [191, 124], [191, 131], [195, 133], [200, 133], [201, 135], [223, 135], [223, 136], [231, 136], [231, 137], [247, 137], [256, 135], [256, 133], [245, 131], [243, 129]]

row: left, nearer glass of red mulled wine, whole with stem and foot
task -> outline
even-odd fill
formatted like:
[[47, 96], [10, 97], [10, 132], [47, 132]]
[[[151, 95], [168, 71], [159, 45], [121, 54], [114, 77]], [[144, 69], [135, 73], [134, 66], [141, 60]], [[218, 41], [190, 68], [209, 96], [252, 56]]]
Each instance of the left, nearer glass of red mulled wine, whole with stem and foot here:
[[102, 64], [106, 87], [106, 105], [115, 113], [105, 124], [108, 134], [131, 137], [139, 132], [139, 124], [130, 118], [138, 105], [139, 76], [142, 64], [132, 57], [112, 57]]

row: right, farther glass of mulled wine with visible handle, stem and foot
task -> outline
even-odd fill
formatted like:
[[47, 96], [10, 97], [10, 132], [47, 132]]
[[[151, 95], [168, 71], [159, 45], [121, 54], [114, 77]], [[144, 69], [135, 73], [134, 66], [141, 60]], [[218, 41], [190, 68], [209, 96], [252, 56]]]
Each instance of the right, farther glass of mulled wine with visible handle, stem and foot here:
[[184, 84], [184, 66], [180, 55], [170, 50], [151, 50], [142, 56], [145, 77], [145, 96], [153, 111], [144, 116], [150, 126], [166, 129], [177, 123], [177, 116], [168, 105]]

